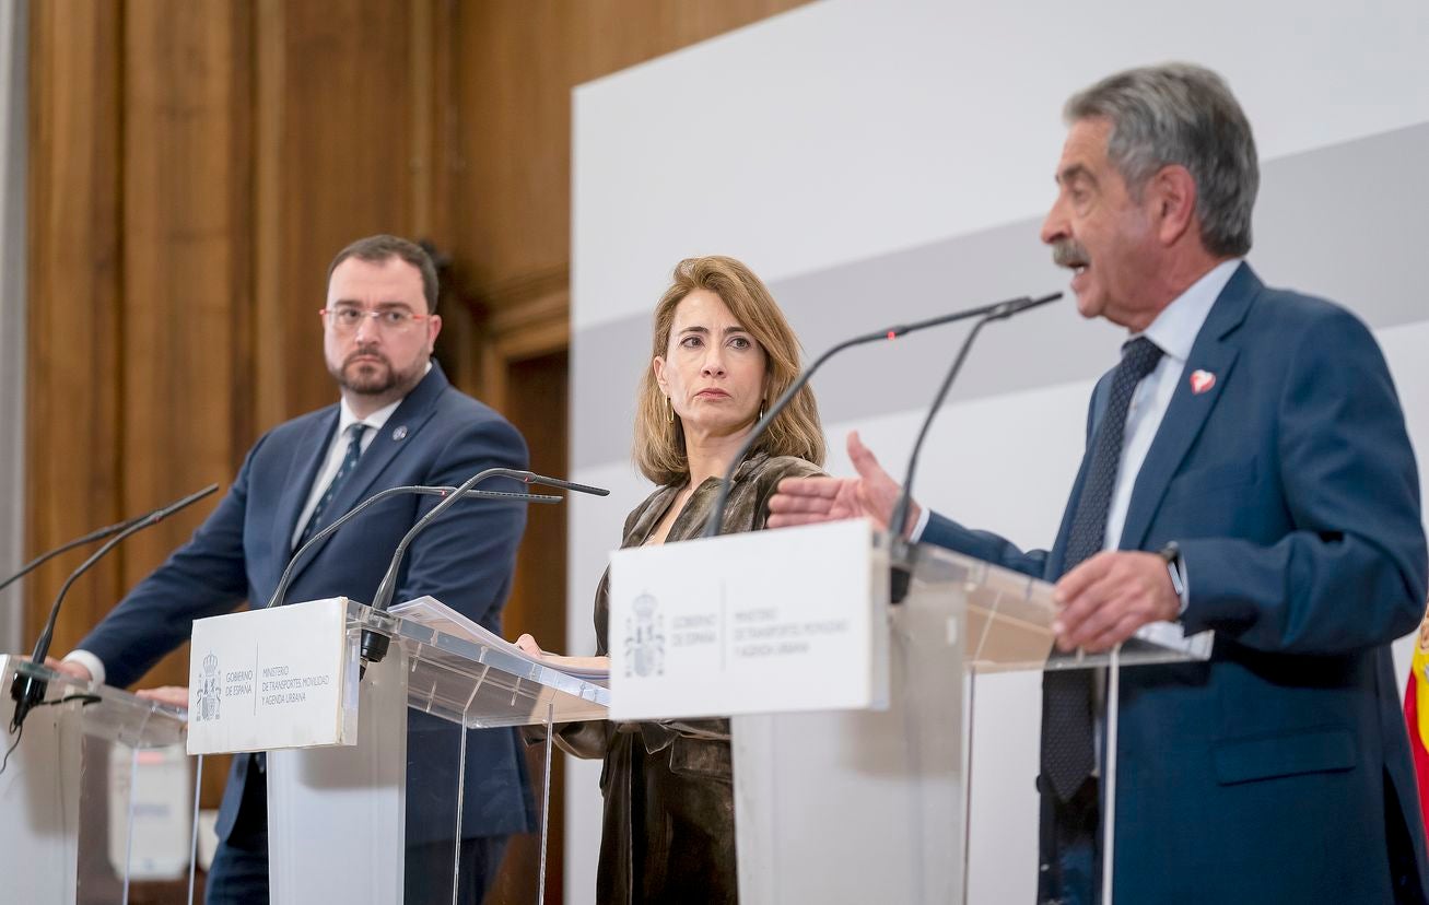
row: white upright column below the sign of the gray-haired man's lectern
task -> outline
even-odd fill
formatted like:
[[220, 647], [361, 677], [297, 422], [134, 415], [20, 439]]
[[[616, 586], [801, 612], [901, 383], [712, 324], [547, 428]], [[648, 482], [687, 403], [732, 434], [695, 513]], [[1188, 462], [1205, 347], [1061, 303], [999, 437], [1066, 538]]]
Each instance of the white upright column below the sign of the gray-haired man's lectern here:
[[[885, 711], [732, 719], [740, 902], [959, 902], [963, 648], [917, 590]], [[853, 869], [850, 869], [853, 865]]]

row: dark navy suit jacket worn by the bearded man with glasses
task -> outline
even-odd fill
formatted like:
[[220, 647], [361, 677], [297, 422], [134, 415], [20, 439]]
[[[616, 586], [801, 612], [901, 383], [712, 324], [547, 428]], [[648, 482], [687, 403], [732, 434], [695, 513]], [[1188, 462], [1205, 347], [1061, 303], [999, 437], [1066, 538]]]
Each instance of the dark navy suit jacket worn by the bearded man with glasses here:
[[[253, 607], [267, 604], [336, 428], [334, 404], [264, 434], [193, 540], [80, 642], [104, 664], [110, 685], [137, 681], [189, 639], [194, 620], [229, 612], [244, 600]], [[453, 388], [433, 364], [373, 438], [329, 508], [346, 512], [387, 487], [456, 485], [483, 468], [526, 468], [526, 444], [516, 428]], [[297, 567], [287, 601], [342, 595], [369, 602], [397, 541], [437, 502], [436, 497], [396, 497], [363, 512]], [[413, 541], [394, 601], [432, 594], [499, 631], [524, 524], [523, 504], [459, 502]], [[416, 711], [407, 711], [407, 841], [452, 838], [459, 729]], [[220, 838], [233, 829], [249, 764], [246, 757], [234, 758], [219, 812]], [[469, 732], [463, 835], [530, 829], [527, 787], [512, 731]]]

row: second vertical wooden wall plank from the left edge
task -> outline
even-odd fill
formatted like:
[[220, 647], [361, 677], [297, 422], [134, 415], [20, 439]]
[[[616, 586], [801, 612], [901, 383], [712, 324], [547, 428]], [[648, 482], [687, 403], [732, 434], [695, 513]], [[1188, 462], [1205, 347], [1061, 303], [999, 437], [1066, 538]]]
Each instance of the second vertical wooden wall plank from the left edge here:
[[[126, 511], [231, 481], [253, 435], [250, 17], [226, 0], [124, 16], [120, 455]], [[124, 542], [131, 587], [217, 500]], [[187, 649], [153, 677], [186, 684]]]

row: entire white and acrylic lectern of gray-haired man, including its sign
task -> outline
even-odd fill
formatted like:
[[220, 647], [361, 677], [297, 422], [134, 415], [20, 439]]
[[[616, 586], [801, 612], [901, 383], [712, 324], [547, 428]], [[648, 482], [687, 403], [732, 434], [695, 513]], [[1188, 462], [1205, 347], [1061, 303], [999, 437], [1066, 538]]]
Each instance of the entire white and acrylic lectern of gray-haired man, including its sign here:
[[[745, 905], [1030, 901], [1040, 714], [1032, 698], [1032, 707], [979, 715], [979, 682], [993, 688], [987, 701], [997, 701], [1009, 682], [995, 674], [1110, 667], [1105, 718], [1115, 739], [1119, 668], [1205, 659], [1210, 652], [1209, 634], [1187, 639], [1162, 625], [1112, 655], [1053, 657], [1057, 608], [1049, 584], [946, 550], [890, 550], [886, 535], [866, 522], [760, 531], [732, 541], [622, 551], [612, 560], [612, 577], [619, 564], [626, 612], [637, 614], [642, 582], [664, 582], [662, 605], [674, 594], [679, 575], [670, 572], [677, 560], [686, 587], [737, 588], [725, 601], [729, 611], [809, 612], [832, 600], [830, 610], [840, 614], [860, 607], [882, 614], [872, 624], [886, 638], [886, 655], [877, 649], [879, 634], [870, 632], [869, 657], [787, 658], [787, 669], [760, 677], [769, 682], [762, 707], [750, 707], [750, 691], [740, 685], [749, 677], [733, 677], [727, 688], [713, 675], [697, 685], [679, 662], [682, 645], [664, 647], [659, 708], [640, 712], [672, 719], [732, 715]], [[673, 550], [680, 550], [677, 558]], [[909, 588], [895, 605], [890, 562], [906, 572]], [[772, 581], [760, 571], [763, 580], [747, 581], [757, 568], [787, 574]], [[830, 582], [830, 575], [837, 580]], [[613, 607], [612, 638], [616, 625]], [[613, 654], [617, 681], [623, 672], [614, 642]], [[827, 689], [847, 682], [842, 669], [850, 664], [879, 671], [870, 685], [887, 689], [886, 708], [880, 701], [835, 709], [843, 705], [830, 704]], [[623, 688], [617, 681], [613, 712], [626, 712]], [[982, 724], [1003, 737], [979, 738]], [[999, 757], [999, 745], [1007, 744], [1019, 745], [1016, 758]], [[1023, 767], [1009, 781], [1010, 771]], [[1115, 777], [1113, 757], [1103, 784], [1113, 802]], [[1107, 834], [1115, 838], [1115, 828]], [[987, 854], [996, 864], [975, 859]]]

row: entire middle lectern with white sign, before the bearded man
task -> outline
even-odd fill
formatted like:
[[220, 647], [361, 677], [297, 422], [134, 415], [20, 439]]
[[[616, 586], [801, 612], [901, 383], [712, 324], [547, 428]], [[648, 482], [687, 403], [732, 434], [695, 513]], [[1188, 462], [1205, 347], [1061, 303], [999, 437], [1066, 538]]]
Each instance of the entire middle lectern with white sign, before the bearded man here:
[[[326, 617], [306, 620], [294, 612], [283, 612], [302, 608], [320, 612], [334, 605], [340, 617], [336, 622]], [[253, 667], [239, 665], [240, 674], [252, 671], [257, 682], [290, 681], [289, 677], [293, 675], [330, 675], [333, 679], [323, 682], [320, 688], [344, 689], [343, 694], [314, 695], [313, 701], [296, 702], [322, 704], [322, 709], [313, 714], [323, 729], [320, 738], [314, 735], [306, 742], [300, 739], [297, 732], [302, 727], [296, 727], [292, 718], [296, 711], [287, 709], [283, 709], [280, 721], [253, 724], [243, 732], [227, 731], [221, 735], [236, 751], [252, 751], [260, 741], [286, 747], [266, 754], [273, 905], [400, 905], [410, 901], [409, 889], [413, 888], [423, 891], [423, 904], [452, 901], [470, 879], [460, 872], [457, 854], [457, 841], [463, 835], [472, 835], [463, 834], [463, 805], [483, 802], [492, 794], [510, 799], [514, 792], [502, 784], [517, 782], [519, 775], [512, 772], [510, 777], [489, 778], [502, 785], [499, 789], [466, 788], [464, 758], [467, 742], [474, 741], [473, 734], [510, 732], [512, 727], [532, 724], [602, 719], [607, 712], [607, 688], [533, 662], [499, 638], [483, 642], [456, 637], [416, 621], [374, 612], [353, 601], [314, 601], [243, 615], [246, 620], [242, 622], [219, 617], [229, 621], [210, 627], [196, 624], [194, 637], [203, 637], [204, 647], [196, 644], [194, 657], [200, 662], [193, 664], [193, 669], [206, 668], [201, 658], [210, 648], [233, 651], [224, 657], [243, 664], [246, 661], [242, 651], [252, 649], [256, 644], [260, 652], [267, 649], [270, 655]], [[214, 634], [234, 625], [239, 627], [239, 642]], [[294, 625], [302, 628], [296, 630]], [[294, 634], [299, 631], [306, 635]], [[282, 637], [274, 638], [269, 632]], [[359, 651], [364, 632], [386, 635], [390, 648], [380, 662], [362, 667]], [[334, 639], [340, 662], [302, 658], [304, 647], [329, 651]], [[277, 655], [274, 651], [290, 652]], [[264, 664], [269, 669], [283, 667], [287, 671], [280, 678], [274, 678], [276, 674], [264, 675]], [[263, 694], [292, 694], [292, 689], [284, 687], [264, 691], [259, 685], [252, 694], [259, 697], [249, 697], [247, 701], [262, 709]], [[191, 699], [196, 708], [201, 707], [196, 691], [191, 691]], [[272, 705], [286, 708], [286, 702]], [[424, 714], [440, 722], [426, 719]], [[456, 731], [409, 732], [409, 724], [420, 719], [426, 719], [429, 725], [436, 722], [437, 727], [442, 722], [454, 724]], [[422, 815], [414, 825], [423, 832], [423, 838], [416, 842], [432, 855], [422, 865], [406, 861], [407, 846], [413, 842], [409, 838], [413, 825], [409, 808], [417, 807], [409, 788], [412, 764], [417, 762], [413, 758], [416, 749], [409, 749], [409, 744], [416, 742], [450, 742], [449, 751], [422, 749], [422, 754], [426, 758], [423, 762], [433, 755], [449, 758], [446, 765], [452, 767], [454, 777], [450, 789], [429, 788], [429, 795], [436, 798], [429, 798], [420, 805], [420, 812], [413, 812]], [[204, 742], [206, 749], [209, 744], [211, 742]], [[533, 787], [534, 801], [529, 802], [537, 815], [537, 832], [519, 835], [512, 849], [526, 849], [522, 854], [523, 865], [530, 862], [529, 869], [537, 874], [536, 882], [542, 891], [537, 901], [543, 901], [550, 744], [537, 751], [536, 775], [544, 782]], [[450, 812], [450, 819], [432, 816], [434, 811]], [[510, 901], [500, 884], [486, 898], [489, 905], [507, 905]]]

